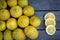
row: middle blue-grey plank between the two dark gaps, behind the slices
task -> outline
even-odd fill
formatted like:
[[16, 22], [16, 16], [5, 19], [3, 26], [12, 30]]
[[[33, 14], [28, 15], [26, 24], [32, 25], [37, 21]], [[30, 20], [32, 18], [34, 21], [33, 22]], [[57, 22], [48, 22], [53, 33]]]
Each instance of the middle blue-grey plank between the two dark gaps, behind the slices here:
[[[41, 19], [41, 25], [37, 29], [45, 29], [44, 16], [47, 12], [50, 11], [39, 11], [35, 12], [35, 16], [38, 16]], [[60, 11], [52, 11], [56, 16], [56, 29], [60, 29]]]

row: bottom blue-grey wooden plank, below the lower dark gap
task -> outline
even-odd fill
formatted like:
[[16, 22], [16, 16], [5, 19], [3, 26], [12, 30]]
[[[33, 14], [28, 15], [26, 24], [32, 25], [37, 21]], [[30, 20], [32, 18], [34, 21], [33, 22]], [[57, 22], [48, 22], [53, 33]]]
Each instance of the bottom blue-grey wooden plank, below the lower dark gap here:
[[[27, 38], [26, 40], [30, 40]], [[60, 31], [56, 31], [56, 33], [52, 36], [48, 35], [45, 30], [39, 30], [39, 36], [36, 40], [60, 40]]]

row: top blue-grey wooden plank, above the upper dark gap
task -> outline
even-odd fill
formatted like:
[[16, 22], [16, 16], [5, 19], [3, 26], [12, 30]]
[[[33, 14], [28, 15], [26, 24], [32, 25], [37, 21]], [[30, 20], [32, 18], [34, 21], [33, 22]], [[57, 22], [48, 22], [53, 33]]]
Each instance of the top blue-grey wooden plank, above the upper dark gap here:
[[35, 10], [60, 10], [60, 0], [29, 0]]

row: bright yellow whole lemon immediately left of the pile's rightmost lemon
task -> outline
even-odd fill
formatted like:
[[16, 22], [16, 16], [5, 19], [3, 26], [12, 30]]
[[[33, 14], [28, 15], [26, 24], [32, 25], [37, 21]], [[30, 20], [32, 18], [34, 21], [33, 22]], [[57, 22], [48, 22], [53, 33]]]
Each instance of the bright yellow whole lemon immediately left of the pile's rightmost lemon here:
[[24, 15], [20, 16], [18, 19], [18, 25], [21, 28], [25, 28], [26, 26], [28, 26], [29, 25], [29, 17], [24, 16]]

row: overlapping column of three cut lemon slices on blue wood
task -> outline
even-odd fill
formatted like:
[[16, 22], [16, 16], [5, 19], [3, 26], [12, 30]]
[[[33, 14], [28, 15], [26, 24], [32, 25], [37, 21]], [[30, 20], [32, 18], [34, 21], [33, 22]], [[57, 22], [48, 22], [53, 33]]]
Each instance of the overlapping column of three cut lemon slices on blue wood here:
[[52, 12], [49, 12], [45, 15], [44, 20], [46, 26], [46, 33], [48, 35], [54, 35], [56, 32], [55, 15]]

